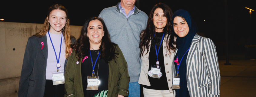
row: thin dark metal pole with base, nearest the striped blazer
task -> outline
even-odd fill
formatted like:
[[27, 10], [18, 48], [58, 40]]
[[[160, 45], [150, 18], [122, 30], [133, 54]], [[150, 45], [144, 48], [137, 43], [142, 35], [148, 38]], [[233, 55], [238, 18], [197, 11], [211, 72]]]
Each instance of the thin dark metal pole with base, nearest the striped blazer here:
[[229, 63], [229, 56], [228, 56], [228, 7], [227, 7], [227, 0], [225, 0], [225, 13], [226, 13], [226, 63], [224, 65], [231, 65]]

